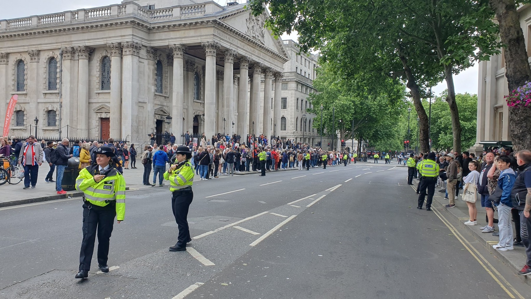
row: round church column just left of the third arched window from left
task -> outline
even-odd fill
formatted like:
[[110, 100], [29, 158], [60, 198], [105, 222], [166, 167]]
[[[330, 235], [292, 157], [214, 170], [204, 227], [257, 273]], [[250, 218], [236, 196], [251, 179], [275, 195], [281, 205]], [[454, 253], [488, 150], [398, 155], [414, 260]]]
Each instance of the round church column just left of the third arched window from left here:
[[78, 54], [78, 136], [89, 137], [89, 58], [92, 48], [79, 46], [74, 48]]

